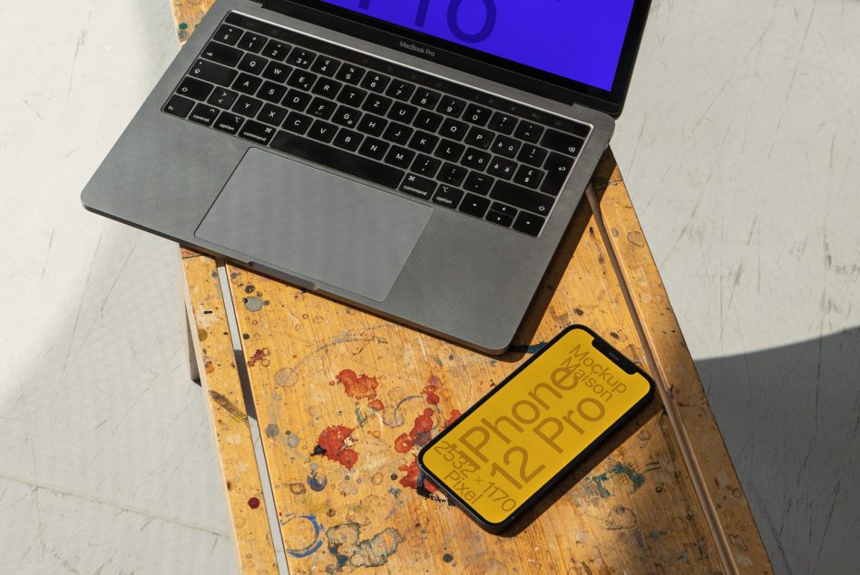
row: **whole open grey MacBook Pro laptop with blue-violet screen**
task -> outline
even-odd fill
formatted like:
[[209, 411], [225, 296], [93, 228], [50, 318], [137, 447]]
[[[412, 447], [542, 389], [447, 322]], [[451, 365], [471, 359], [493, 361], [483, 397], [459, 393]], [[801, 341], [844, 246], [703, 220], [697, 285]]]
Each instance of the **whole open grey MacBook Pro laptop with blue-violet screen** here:
[[83, 190], [488, 353], [609, 145], [648, 0], [216, 0]]

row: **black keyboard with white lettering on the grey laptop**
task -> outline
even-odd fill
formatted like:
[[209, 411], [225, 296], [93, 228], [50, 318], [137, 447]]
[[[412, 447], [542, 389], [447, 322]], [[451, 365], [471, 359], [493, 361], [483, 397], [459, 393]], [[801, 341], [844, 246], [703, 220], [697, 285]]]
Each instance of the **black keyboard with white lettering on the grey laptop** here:
[[591, 130], [237, 13], [162, 110], [530, 236]]

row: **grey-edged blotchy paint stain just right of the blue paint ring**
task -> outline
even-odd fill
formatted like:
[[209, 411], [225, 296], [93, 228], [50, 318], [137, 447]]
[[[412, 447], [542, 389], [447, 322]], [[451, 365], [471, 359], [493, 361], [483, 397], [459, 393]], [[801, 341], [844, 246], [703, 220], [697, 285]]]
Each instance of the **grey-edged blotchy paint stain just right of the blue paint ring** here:
[[371, 538], [361, 539], [361, 525], [341, 523], [327, 529], [328, 551], [336, 558], [333, 570], [344, 567], [381, 567], [404, 541], [400, 531], [388, 527]]

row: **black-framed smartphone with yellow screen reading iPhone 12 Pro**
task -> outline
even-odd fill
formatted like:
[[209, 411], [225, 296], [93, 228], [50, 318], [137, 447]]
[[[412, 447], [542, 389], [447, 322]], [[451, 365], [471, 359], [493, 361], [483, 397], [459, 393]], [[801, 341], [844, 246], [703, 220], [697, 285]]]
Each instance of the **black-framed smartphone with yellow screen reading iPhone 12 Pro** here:
[[654, 395], [650, 376], [567, 327], [418, 453], [425, 477], [503, 531]]

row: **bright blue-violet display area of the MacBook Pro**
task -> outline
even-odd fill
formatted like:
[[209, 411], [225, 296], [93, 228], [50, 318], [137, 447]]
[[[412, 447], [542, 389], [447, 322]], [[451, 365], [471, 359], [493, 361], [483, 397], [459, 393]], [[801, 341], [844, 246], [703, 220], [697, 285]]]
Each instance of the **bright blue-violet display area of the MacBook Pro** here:
[[322, 0], [612, 90], [634, 0]]

